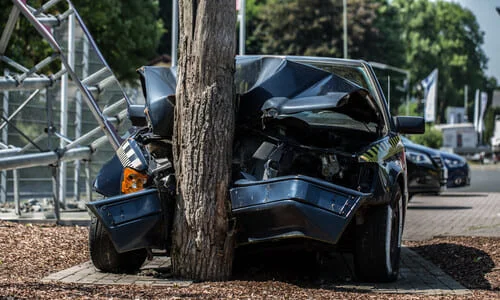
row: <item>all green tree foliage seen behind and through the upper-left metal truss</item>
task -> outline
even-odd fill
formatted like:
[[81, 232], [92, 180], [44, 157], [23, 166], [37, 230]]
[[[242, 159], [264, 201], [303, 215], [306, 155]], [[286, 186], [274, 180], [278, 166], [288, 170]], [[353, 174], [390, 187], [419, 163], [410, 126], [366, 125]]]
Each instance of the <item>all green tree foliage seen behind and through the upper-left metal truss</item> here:
[[[29, 1], [35, 8], [45, 1]], [[158, 19], [158, 2], [155, 0], [74, 0], [72, 3], [82, 16], [99, 49], [120, 80], [135, 80], [135, 70], [157, 56], [157, 47], [162, 32]], [[12, 1], [0, 0], [0, 31], [8, 19]], [[52, 8], [51, 13], [65, 10], [63, 4]], [[52, 53], [47, 42], [28, 20], [20, 16], [12, 35], [7, 56], [33, 66]], [[6, 67], [0, 63], [0, 68]], [[48, 72], [55, 72], [55, 64]]]

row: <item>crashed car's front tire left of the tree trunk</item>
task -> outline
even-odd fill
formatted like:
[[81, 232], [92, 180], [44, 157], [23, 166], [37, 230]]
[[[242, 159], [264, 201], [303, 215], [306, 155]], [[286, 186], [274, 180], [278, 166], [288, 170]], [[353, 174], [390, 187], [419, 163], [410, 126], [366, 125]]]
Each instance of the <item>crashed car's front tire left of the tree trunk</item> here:
[[101, 222], [95, 217], [90, 222], [89, 251], [94, 266], [108, 273], [137, 272], [147, 257], [146, 249], [118, 253]]

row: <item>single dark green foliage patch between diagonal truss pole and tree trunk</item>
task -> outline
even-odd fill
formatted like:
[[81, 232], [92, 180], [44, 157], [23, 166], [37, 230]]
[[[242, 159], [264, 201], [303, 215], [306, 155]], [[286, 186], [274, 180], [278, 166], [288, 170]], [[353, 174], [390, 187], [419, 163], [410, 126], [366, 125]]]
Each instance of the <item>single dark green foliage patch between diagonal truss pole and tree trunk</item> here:
[[155, 0], [74, 0], [89, 31], [120, 80], [157, 56], [163, 30]]

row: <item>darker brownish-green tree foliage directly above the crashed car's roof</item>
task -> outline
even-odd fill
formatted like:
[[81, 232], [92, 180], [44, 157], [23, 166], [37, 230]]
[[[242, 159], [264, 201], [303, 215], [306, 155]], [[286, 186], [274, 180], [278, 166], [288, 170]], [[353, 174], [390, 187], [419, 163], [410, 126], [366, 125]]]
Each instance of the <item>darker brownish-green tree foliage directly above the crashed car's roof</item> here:
[[[252, 53], [343, 56], [342, 1], [250, 0], [247, 9]], [[387, 1], [351, 0], [347, 13], [349, 57], [403, 61], [396, 10]]]

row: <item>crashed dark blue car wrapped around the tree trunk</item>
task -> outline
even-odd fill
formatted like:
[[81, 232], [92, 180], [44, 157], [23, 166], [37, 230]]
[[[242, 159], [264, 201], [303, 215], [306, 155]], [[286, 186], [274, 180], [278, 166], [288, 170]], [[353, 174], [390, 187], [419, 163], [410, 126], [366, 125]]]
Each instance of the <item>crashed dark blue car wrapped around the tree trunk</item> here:
[[[146, 105], [129, 107], [135, 133], [95, 180], [105, 198], [88, 204], [90, 254], [103, 271], [135, 271], [171, 243], [175, 70], [140, 74]], [[342, 245], [358, 279], [395, 280], [408, 201], [399, 133], [423, 132], [423, 119], [391, 117], [363, 61], [241, 56], [235, 85], [236, 247]]]

